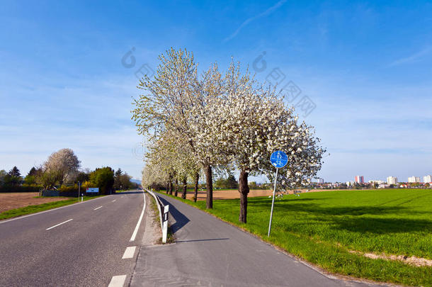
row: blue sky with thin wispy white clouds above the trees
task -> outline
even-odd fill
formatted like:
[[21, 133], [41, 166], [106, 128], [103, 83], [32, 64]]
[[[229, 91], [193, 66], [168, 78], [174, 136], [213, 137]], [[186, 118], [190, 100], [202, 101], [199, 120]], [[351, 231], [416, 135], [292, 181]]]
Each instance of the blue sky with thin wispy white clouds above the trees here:
[[234, 57], [258, 79], [278, 71], [281, 86], [295, 83], [292, 103], [316, 106], [300, 118], [329, 152], [326, 181], [432, 174], [426, 1], [2, 1], [0, 169], [27, 173], [70, 147], [83, 167], [140, 178], [135, 72], [155, 70], [169, 47], [202, 68]]

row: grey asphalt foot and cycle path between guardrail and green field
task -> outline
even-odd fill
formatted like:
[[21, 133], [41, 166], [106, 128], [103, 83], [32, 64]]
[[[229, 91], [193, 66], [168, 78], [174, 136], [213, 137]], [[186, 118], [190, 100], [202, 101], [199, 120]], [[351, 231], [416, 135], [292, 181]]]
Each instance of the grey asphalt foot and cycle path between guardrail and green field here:
[[161, 198], [176, 243], [141, 247], [130, 286], [371, 286], [324, 276], [212, 215]]

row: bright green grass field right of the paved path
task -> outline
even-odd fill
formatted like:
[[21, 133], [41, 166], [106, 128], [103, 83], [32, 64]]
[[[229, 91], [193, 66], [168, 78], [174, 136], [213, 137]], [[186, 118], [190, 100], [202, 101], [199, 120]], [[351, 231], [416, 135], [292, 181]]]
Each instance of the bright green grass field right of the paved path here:
[[[189, 204], [205, 209], [205, 201]], [[247, 224], [239, 200], [214, 202], [208, 212], [249, 230], [287, 252], [339, 274], [375, 281], [432, 286], [432, 267], [370, 259], [348, 251], [432, 259], [432, 190], [324, 191], [275, 201], [249, 198]]]

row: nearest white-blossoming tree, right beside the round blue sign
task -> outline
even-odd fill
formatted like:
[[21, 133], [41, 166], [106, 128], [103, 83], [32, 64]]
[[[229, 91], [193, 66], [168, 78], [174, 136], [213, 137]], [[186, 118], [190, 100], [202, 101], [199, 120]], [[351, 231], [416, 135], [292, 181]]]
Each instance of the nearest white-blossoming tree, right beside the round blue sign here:
[[289, 154], [283, 184], [305, 184], [317, 174], [324, 150], [318, 146], [312, 128], [297, 123], [293, 108], [288, 108], [275, 89], [256, 86], [249, 74], [241, 74], [239, 65], [231, 64], [227, 72], [227, 95], [207, 106], [213, 118], [206, 139], [220, 145], [229, 160], [239, 169], [240, 214], [246, 223], [249, 174], [271, 174], [269, 161], [275, 150]]

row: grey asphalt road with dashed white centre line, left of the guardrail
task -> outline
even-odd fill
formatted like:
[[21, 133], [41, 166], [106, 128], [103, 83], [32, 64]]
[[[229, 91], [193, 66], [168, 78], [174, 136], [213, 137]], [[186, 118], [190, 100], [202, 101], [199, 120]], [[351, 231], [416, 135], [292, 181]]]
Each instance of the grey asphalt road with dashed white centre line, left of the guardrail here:
[[0, 286], [127, 285], [144, 231], [137, 229], [143, 198], [118, 193], [0, 221]]

